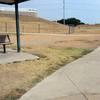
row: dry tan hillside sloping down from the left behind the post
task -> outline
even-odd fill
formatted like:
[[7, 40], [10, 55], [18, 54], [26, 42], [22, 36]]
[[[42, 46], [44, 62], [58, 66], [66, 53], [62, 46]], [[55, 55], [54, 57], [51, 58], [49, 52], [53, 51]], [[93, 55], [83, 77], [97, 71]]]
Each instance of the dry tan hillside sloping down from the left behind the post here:
[[[21, 33], [67, 33], [67, 26], [39, 18], [32, 14], [20, 13]], [[14, 13], [0, 12], [0, 32], [15, 33]]]

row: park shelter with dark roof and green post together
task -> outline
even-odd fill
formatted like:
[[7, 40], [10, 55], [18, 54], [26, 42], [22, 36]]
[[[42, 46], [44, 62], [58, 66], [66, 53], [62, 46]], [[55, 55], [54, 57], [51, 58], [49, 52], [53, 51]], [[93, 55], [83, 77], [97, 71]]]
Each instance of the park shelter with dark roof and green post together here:
[[20, 27], [19, 27], [19, 11], [18, 4], [28, 0], [0, 0], [0, 4], [15, 5], [15, 15], [16, 15], [16, 36], [17, 36], [17, 52], [20, 52]]

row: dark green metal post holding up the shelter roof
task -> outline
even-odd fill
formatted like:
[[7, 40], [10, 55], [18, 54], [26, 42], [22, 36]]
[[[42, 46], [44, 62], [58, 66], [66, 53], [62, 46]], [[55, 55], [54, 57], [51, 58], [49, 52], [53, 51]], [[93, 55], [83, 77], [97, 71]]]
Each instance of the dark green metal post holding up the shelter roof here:
[[20, 47], [20, 28], [19, 28], [18, 3], [15, 3], [15, 17], [16, 17], [17, 52], [20, 52], [21, 47]]

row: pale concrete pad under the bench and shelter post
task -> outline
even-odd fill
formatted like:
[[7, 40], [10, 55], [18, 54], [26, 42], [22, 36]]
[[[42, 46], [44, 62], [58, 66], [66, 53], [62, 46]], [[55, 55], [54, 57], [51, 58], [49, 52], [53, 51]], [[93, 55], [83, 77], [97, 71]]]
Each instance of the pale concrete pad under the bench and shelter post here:
[[7, 64], [25, 60], [34, 60], [38, 58], [39, 57], [29, 53], [24, 53], [24, 52], [17, 53], [16, 50], [12, 49], [7, 49], [7, 53], [3, 53], [2, 49], [0, 49], [0, 64]]

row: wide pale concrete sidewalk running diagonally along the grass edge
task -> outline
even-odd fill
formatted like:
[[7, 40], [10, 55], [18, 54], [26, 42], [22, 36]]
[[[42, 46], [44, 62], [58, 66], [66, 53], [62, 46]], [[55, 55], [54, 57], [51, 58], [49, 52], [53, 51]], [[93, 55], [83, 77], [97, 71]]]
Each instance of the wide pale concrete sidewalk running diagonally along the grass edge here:
[[100, 100], [100, 48], [56, 71], [19, 100]]

